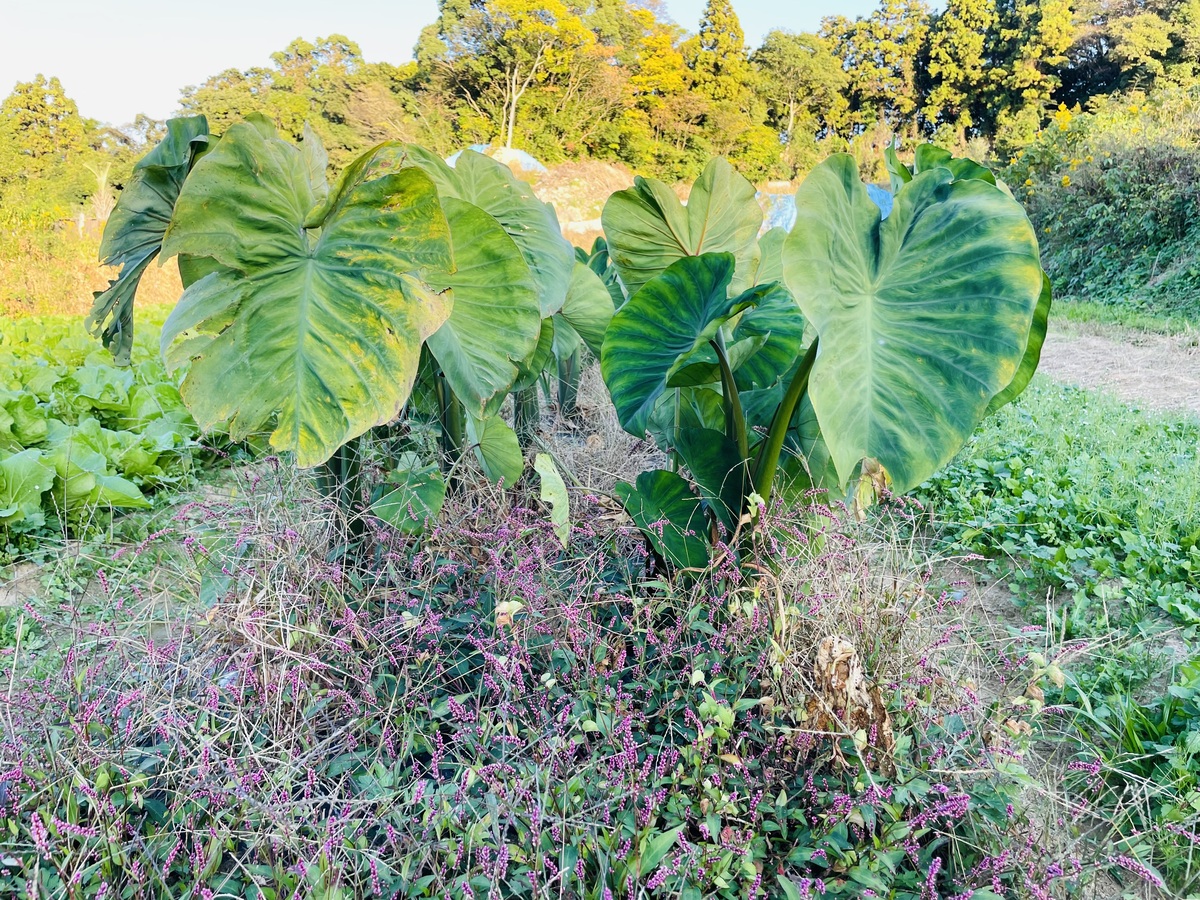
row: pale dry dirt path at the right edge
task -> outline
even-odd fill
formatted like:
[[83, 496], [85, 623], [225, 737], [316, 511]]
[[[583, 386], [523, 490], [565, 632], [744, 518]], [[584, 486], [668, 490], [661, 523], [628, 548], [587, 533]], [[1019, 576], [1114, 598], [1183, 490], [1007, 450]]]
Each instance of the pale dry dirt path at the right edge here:
[[1195, 335], [1051, 330], [1039, 371], [1056, 382], [1105, 390], [1146, 409], [1200, 415], [1200, 341]]

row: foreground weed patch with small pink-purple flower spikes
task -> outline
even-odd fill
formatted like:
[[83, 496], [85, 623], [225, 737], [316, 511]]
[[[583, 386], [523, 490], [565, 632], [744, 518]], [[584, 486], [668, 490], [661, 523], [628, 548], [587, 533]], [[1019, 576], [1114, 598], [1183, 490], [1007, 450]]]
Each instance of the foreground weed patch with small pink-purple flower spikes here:
[[[1031, 818], [1028, 638], [986, 666], [914, 546], [815, 508], [774, 577], [671, 583], [606, 502], [564, 551], [474, 493], [355, 569], [293, 478], [100, 562], [107, 622], [26, 607], [64, 649], [6, 650], [5, 890], [1049, 896], [1110, 865]], [[186, 577], [128, 577], [156, 552]], [[833, 636], [887, 721], [818, 725]]]

